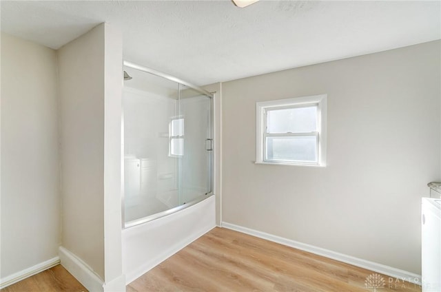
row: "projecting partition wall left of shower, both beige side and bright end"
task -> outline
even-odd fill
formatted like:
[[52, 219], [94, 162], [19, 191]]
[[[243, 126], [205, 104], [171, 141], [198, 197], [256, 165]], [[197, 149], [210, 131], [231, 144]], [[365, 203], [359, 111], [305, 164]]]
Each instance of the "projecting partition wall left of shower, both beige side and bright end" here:
[[124, 284], [121, 34], [103, 23], [64, 45], [59, 81], [62, 244], [105, 284]]

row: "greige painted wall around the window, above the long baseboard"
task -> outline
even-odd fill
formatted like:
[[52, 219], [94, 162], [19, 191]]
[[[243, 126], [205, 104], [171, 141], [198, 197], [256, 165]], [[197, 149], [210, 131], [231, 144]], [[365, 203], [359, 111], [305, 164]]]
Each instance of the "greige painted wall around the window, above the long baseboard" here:
[[[420, 273], [440, 41], [223, 83], [223, 221]], [[327, 167], [255, 165], [256, 102], [328, 94]]]

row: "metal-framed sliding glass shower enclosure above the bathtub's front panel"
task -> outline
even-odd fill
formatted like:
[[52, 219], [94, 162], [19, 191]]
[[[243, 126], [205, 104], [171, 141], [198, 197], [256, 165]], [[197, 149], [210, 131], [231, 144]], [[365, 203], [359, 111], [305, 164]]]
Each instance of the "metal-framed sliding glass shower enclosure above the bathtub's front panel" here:
[[123, 227], [141, 225], [213, 194], [212, 94], [124, 62]]

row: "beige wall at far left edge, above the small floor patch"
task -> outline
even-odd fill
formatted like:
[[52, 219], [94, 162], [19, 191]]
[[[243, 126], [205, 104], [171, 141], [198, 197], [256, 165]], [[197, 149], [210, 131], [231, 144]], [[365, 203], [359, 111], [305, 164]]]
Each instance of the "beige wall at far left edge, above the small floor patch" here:
[[1, 33], [1, 275], [57, 257], [57, 53]]

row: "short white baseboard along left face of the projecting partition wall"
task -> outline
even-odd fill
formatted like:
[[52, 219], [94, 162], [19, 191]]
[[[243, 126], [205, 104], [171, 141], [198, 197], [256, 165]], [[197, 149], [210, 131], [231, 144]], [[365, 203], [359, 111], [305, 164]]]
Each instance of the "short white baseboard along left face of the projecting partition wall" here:
[[89, 291], [103, 291], [103, 280], [88, 264], [65, 247], [59, 247], [61, 265]]

